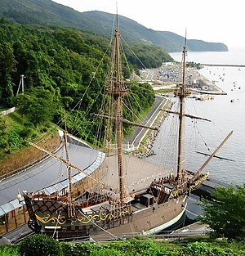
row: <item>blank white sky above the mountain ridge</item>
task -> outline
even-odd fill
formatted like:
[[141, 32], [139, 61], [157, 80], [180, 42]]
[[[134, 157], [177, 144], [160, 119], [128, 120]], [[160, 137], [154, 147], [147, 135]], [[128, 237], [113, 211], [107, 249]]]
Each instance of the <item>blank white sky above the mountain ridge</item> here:
[[148, 29], [245, 47], [243, 0], [52, 0], [74, 10], [116, 13]]

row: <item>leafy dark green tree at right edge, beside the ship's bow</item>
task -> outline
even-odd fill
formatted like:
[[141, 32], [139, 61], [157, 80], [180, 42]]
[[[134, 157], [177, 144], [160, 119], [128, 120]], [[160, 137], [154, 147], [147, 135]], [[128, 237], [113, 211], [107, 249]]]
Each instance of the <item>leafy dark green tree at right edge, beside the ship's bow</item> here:
[[200, 220], [212, 228], [215, 236], [245, 237], [245, 184], [218, 187], [212, 200], [203, 200], [203, 204]]

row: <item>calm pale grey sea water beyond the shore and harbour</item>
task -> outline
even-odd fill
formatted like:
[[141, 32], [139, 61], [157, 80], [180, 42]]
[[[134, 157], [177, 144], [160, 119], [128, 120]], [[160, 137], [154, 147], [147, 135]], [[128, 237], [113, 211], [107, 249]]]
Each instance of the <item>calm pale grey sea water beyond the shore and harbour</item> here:
[[[171, 56], [176, 61], [181, 61], [180, 52], [171, 53]], [[188, 52], [186, 61], [245, 65], [245, 48], [231, 49], [229, 52]], [[207, 159], [207, 156], [197, 152], [211, 154], [210, 152], [216, 149], [226, 135], [234, 131], [216, 154], [225, 159], [213, 158], [203, 172], [208, 171], [210, 177], [222, 182], [242, 185], [245, 183], [245, 67], [205, 66], [198, 72], [210, 81], [214, 81], [227, 95], [216, 95], [214, 99], [206, 101], [186, 99], [185, 109], [189, 115], [198, 115], [210, 119], [211, 122], [186, 120], [184, 141], [186, 153], [183, 156], [183, 167], [197, 171]], [[176, 103], [173, 108], [175, 105]], [[176, 147], [176, 141], [171, 135], [173, 119], [169, 116], [163, 122], [154, 141], [155, 155], [150, 156], [148, 160], [161, 165], [167, 162], [165, 166], [172, 168], [174, 173], [176, 167], [173, 168], [172, 164], [176, 161], [176, 152], [171, 150], [171, 146]], [[163, 146], [164, 143], [168, 143], [167, 146]]]

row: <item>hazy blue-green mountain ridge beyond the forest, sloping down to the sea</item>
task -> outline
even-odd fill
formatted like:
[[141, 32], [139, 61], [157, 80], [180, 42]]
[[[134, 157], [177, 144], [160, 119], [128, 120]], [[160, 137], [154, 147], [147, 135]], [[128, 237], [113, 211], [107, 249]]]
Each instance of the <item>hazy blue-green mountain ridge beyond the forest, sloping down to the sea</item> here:
[[[94, 34], [110, 36], [114, 14], [103, 11], [79, 12], [51, 0], [1, 0], [0, 16], [23, 25], [73, 27]], [[168, 31], [147, 29], [136, 21], [119, 16], [122, 38], [128, 43], [145, 41], [167, 52], [181, 52], [184, 38]], [[187, 40], [188, 50], [193, 52], [226, 52], [224, 43], [207, 43], [202, 40]]]

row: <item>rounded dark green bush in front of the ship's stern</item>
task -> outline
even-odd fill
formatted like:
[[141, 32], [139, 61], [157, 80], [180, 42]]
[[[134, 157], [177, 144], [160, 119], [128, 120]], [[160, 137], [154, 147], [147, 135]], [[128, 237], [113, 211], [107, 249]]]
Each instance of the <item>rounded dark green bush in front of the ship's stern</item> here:
[[33, 235], [20, 242], [22, 256], [59, 256], [60, 244], [50, 236]]

